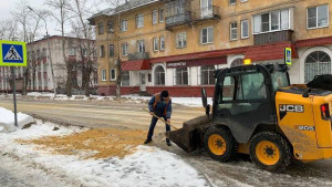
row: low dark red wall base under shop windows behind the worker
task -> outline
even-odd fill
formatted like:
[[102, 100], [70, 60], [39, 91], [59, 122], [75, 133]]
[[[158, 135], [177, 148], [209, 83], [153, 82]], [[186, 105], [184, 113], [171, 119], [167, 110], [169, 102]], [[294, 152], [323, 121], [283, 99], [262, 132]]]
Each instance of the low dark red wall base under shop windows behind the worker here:
[[206, 89], [206, 93], [209, 97], [214, 96], [215, 86], [151, 86], [146, 87], [149, 94], [159, 93], [167, 90], [170, 96], [184, 96], [184, 97], [200, 97], [201, 87]]

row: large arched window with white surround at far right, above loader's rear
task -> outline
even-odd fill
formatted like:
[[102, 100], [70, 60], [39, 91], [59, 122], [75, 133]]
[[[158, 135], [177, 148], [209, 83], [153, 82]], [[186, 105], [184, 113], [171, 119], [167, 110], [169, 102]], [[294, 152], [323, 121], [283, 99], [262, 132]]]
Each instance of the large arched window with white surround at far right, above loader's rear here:
[[315, 75], [321, 74], [332, 74], [331, 56], [323, 51], [315, 51], [310, 53], [305, 59], [304, 82], [308, 83], [313, 80]]

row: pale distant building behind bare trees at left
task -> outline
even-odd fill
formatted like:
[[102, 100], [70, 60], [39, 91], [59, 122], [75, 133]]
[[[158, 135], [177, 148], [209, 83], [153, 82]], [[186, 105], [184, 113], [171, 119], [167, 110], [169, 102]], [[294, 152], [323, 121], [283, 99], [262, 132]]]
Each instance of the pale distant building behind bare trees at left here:
[[[49, 42], [51, 54], [49, 53]], [[86, 41], [77, 38], [65, 37], [65, 56], [69, 61], [74, 63], [74, 71], [72, 74], [73, 89], [79, 89], [82, 85], [82, 59], [84, 58], [87, 60], [89, 54], [87, 49], [83, 49], [83, 52], [81, 52], [82, 48], [80, 44], [84, 42], [90, 42], [90, 50], [94, 50], [94, 58], [92, 59], [94, 60], [95, 71], [91, 75], [90, 86], [94, 87], [97, 84], [95, 41]], [[68, 73], [65, 62], [63, 60], [62, 37], [54, 35], [28, 43], [27, 53], [29, 65], [27, 90], [29, 92], [53, 92], [54, 85], [51, 70], [52, 60], [56, 89], [59, 93], [63, 93]], [[18, 69], [17, 82], [19, 85], [17, 89], [19, 91], [22, 90], [23, 86], [23, 73], [24, 70], [22, 67]], [[12, 77], [10, 69], [0, 67], [0, 92], [11, 92], [11, 80]]]

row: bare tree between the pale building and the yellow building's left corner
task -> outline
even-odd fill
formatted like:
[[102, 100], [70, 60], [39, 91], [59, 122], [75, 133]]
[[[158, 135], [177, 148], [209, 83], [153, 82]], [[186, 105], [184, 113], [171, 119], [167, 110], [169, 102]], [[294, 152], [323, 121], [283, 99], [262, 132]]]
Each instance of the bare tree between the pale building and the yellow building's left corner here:
[[77, 49], [81, 55], [82, 89], [86, 96], [90, 96], [90, 79], [95, 69], [93, 55], [95, 45], [93, 41], [94, 30], [85, 20], [91, 14], [90, 10], [94, 6], [87, 7], [87, 0], [71, 0], [71, 6], [69, 7], [69, 10], [73, 12], [76, 19], [76, 21], [72, 21], [72, 30], [75, 37], [80, 39], [77, 41]]

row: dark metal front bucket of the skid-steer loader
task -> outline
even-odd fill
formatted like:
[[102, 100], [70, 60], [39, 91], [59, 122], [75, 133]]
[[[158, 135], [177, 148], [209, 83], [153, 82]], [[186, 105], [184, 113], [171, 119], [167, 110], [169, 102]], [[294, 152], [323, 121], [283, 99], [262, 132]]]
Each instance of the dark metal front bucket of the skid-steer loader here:
[[187, 121], [184, 123], [183, 128], [169, 133], [169, 139], [190, 153], [203, 144], [205, 127], [210, 122], [211, 118], [207, 115]]

